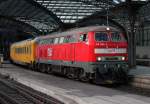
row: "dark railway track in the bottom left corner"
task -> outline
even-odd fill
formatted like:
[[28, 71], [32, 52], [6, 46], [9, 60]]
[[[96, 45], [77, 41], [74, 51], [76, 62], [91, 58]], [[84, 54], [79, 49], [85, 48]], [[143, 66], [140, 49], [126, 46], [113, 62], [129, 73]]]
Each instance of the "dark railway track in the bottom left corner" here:
[[0, 77], [0, 104], [64, 104], [20, 83]]

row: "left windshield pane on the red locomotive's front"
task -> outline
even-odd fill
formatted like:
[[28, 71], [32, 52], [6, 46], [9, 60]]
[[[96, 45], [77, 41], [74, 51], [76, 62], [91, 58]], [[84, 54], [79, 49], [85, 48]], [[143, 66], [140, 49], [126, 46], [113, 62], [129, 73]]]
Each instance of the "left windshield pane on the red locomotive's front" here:
[[108, 35], [105, 32], [97, 32], [95, 33], [96, 41], [108, 41]]

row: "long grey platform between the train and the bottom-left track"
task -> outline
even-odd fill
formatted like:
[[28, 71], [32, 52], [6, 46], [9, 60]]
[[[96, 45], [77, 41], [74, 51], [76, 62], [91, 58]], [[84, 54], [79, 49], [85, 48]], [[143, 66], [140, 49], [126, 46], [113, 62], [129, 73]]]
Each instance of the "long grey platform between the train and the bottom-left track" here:
[[150, 104], [150, 98], [54, 75], [33, 72], [9, 63], [0, 73], [65, 104]]

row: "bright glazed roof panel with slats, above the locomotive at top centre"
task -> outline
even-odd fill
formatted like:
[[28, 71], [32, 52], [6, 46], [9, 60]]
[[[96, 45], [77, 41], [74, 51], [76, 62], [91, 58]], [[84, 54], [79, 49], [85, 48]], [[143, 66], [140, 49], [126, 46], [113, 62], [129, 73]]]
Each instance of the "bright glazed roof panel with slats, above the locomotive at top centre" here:
[[124, 0], [35, 0], [64, 23], [74, 23], [94, 12], [114, 7]]

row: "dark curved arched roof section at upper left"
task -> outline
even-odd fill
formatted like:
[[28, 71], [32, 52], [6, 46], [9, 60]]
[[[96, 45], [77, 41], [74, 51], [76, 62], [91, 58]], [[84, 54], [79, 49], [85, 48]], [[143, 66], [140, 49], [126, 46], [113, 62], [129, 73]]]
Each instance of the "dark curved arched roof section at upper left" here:
[[1, 0], [0, 15], [23, 22], [27, 20], [30, 21], [30, 23], [39, 23], [34, 25], [34, 27], [39, 30], [41, 29], [39, 28], [41, 21], [44, 21], [42, 22], [43, 25], [46, 25], [46, 29], [49, 30], [52, 30], [53, 28], [60, 28], [63, 24], [62, 21], [53, 14], [53, 12], [47, 10], [34, 0]]

